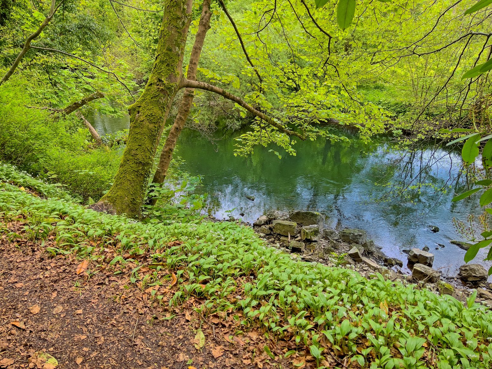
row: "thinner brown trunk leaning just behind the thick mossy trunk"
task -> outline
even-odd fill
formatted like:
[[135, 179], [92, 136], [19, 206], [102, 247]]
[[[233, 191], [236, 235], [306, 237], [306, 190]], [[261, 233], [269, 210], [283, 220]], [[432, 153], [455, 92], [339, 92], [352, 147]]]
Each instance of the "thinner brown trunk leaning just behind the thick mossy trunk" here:
[[[188, 64], [188, 80], [196, 80], [196, 71], [198, 68], [198, 61], [200, 60], [200, 54], [202, 52], [203, 43], [207, 31], [210, 29], [210, 2], [211, 0], [203, 0], [202, 14], [200, 16], [200, 22], [198, 24], [198, 31], [196, 32], [195, 43], [191, 50], [191, 55]], [[183, 130], [186, 119], [188, 119], [189, 112], [191, 110], [191, 104], [193, 103], [193, 97], [195, 95], [195, 89], [187, 88], [184, 90], [183, 98], [181, 100], [180, 109], [178, 115], [169, 131], [164, 148], [160, 154], [159, 163], [155, 170], [153, 183], [162, 183], [167, 175], [167, 170], [173, 156], [174, 149], [176, 148], [176, 142]], [[156, 199], [152, 199], [150, 203], [155, 205]]]

